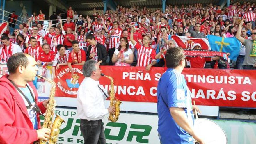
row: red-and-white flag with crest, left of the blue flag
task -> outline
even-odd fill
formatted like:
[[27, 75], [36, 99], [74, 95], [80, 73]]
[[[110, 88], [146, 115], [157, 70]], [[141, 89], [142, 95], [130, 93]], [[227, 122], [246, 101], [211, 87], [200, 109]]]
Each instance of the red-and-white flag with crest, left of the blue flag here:
[[191, 49], [195, 43], [199, 43], [202, 49], [211, 50], [210, 44], [206, 38], [191, 38], [173, 35], [172, 39], [175, 40], [178, 47], [182, 47], [183, 49]]

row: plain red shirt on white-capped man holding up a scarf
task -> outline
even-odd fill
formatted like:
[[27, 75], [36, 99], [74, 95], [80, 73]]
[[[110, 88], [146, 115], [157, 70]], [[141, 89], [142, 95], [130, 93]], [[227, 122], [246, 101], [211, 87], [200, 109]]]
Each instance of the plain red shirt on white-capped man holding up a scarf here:
[[204, 68], [205, 62], [211, 61], [211, 58], [204, 58], [201, 56], [197, 56], [194, 58], [186, 57], [190, 61], [190, 68]]

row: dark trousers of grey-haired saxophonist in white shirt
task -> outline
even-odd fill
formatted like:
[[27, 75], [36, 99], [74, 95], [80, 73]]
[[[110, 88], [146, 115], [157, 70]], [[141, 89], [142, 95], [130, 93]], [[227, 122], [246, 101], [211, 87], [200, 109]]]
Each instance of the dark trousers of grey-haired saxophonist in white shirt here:
[[81, 119], [80, 130], [84, 138], [84, 144], [106, 144], [106, 137], [102, 120]]

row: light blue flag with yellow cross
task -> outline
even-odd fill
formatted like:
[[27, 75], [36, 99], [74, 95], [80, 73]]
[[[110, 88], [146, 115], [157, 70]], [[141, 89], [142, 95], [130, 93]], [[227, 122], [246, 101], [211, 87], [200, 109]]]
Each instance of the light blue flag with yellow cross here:
[[207, 35], [211, 50], [230, 53], [229, 58], [234, 60], [237, 58], [241, 43], [237, 38], [223, 38], [215, 35]]

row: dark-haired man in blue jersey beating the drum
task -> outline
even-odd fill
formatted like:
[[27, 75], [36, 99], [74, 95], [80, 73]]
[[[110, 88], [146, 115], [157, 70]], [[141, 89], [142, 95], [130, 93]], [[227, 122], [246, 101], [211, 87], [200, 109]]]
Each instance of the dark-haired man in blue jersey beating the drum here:
[[[185, 67], [183, 49], [166, 52], [167, 70], [157, 86], [158, 134], [161, 144], [204, 144], [193, 130], [194, 115], [190, 92], [181, 75]], [[197, 108], [194, 108], [197, 109]]]

